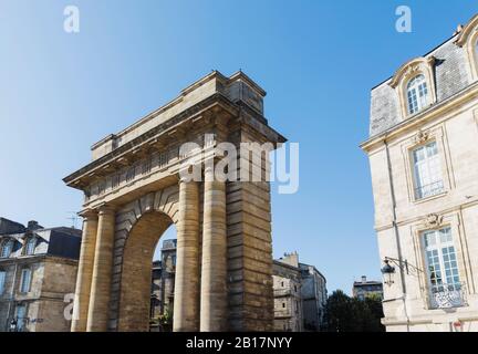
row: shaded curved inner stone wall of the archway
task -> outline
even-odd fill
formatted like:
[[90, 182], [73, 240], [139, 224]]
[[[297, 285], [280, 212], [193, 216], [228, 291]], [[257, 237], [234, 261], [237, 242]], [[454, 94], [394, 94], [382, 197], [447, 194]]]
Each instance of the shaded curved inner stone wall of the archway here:
[[[169, 228], [172, 230], [166, 232]], [[155, 250], [165, 233], [170, 239], [170, 235], [175, 231], [170, 217], [158, 211], [143, 215], [131, 229], [123, 253], [118, 331], [147, 332], [150, 330]], [[169, 292], [174, 296], [174, 282]], [[172, 327], [172, 311], [170, 315]]]

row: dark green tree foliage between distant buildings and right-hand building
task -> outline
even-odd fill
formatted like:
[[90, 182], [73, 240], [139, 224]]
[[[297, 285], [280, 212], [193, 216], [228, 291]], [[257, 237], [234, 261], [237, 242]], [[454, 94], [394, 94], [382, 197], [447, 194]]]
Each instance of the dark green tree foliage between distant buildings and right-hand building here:
[[337, 290], [328, 299], [324, 326], [328, 332], [384, 332], [382, 301], [377, 296], [358, 300]]

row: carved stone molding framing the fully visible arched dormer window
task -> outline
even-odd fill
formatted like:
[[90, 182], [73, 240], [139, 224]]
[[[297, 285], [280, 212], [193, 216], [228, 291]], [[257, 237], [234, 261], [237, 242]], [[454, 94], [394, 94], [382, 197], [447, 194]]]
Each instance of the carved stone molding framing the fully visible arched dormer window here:
[[436, 103], [436, 87], [434, 79], [435, 61], [435, 56], [415, 58], [403, 64], [392, 77], [392, 81], [388, 83], [391, 87], [396, 88], [397, 91], [399, 105], [402, 107], [402, 116], [404, 118], [409, 116], [406, 100], [406, 85], [412, 79], [419, 74], [423, 74], [427, 82], [427, 87], [429, 91], [429, 105]]

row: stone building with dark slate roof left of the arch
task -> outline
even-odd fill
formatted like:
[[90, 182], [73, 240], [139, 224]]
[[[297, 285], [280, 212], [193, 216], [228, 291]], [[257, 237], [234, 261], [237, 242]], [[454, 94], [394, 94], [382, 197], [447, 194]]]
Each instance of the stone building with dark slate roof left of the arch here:
[[81, 231], [3, 218], [0, 231], [0, 331], [70, 331]]

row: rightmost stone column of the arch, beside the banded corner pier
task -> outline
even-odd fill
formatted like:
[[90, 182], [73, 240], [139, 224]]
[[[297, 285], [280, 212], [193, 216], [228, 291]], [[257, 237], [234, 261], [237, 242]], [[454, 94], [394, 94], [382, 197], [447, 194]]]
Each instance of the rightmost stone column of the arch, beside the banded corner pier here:
[[227, 330], [226, 183], [205, 170], [200, 331]]

